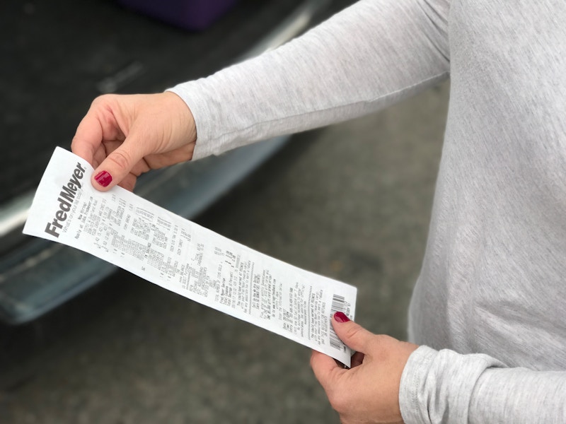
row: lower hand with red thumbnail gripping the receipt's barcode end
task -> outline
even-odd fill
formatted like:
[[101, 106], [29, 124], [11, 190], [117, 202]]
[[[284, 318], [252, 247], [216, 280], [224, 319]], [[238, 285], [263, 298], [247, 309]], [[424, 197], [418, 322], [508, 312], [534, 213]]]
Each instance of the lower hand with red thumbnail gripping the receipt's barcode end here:
[[313, 351], [311, 367], [343, 424], [403, 423], [399, 408], [401, 374], [418, 347], [389, 336], [372, 334], [337, 312], [333, 326], [354, 351], [352, 368]]

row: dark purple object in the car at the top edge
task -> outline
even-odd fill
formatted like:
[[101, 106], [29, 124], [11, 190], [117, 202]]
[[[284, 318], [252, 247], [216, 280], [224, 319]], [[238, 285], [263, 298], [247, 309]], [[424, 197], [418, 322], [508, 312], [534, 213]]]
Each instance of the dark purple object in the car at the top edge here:
[[135, 11], [188, 30], [204, 30], [238, 0], [118, 0]]

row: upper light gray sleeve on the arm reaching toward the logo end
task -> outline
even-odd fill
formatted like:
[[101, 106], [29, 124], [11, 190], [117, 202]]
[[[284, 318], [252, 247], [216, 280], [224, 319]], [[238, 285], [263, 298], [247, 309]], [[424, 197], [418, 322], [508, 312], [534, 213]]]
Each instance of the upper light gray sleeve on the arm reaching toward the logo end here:
[[[364, 0], [295, 40], [170, 90], [194, 158], [375, 112], [449, 75], [447, 0]], [[196, 58], [195, 58], [196, 59]]]

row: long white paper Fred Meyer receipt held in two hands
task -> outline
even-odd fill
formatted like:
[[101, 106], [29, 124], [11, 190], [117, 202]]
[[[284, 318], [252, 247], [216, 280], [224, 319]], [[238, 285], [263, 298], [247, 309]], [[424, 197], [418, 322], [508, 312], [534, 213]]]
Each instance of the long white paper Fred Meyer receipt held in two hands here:
[[56, 148], [23, 232], [93, 254], [151, 283], [320, 351], [350, 366], [332, 315], [354, 319], [357, 289], [256, 252], [114, 187]]

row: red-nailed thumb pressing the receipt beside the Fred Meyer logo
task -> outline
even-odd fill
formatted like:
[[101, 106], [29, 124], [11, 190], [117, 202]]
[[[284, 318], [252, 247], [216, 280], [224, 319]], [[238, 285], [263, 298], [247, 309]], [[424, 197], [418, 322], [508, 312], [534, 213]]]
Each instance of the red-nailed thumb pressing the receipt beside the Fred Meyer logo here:
[[144, 152], [132, 146], [136, 146], [136, 143], [131, 139], [126, 139], [98, 165], [91, 178], [93, 187], [105, 192], [122, 183], [120, 185], [126, 189], [134, 189], [135, 177], [130, 175], [130, 172], [134, 165], [144, 157]]

